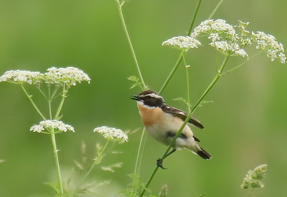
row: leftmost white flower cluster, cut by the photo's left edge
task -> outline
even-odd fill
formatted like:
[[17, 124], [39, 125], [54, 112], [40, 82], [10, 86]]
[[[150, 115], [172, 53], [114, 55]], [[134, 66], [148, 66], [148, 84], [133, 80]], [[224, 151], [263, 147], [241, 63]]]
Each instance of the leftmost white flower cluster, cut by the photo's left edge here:
[[0, 82], [7, 81], [10, 83], [38, 84], [43, 80], [43, 74], [40, 72], [31, 72], [28, 70], [9, 70], [0, 76]]

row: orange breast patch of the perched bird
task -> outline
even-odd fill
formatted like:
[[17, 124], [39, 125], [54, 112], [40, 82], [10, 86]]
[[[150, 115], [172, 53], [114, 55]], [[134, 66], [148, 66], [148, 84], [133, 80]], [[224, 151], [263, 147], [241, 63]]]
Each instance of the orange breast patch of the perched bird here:
[[145, 127], [151, 126], [154, 123], [159, 123], [162, 119], [162, 113], [164, 113], [159, 107], [156, 108], [146, 108], [142, 105], [137, 105], [139, 108], [139, 114], [141, 115], [141, 120], [143, 121]]

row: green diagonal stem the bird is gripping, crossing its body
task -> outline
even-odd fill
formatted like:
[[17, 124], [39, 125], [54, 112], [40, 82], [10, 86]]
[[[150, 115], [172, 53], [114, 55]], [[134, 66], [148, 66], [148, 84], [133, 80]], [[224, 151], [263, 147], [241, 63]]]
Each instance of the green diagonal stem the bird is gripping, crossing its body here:
[[[185, 119], [185, 121], [183, 122], [183, 125], [181, 126], [181, 128], [179, 129], [179, 131], [177, 132], [177, 134], [174, 136], [174, 138], [172, 139], [172, 142], [169, 144], [168, 148], [166, 149], [166, 151], [164, 152], [164, 154], [162, 155], [161, 159], [164, 160], [165, 155], [169, 152], [170, 148], [172, 148], [172, 146], [174, 146], [174, 142], [176, 141], [176, 139], [179, 137], [179, 135], [181, 134], [181, 131], [183, 130], [183, 128], [185, 127], [185, 125], [187, 125], [192, 113], [195, 111], [195, 109], [197, 108], [197, 106], [199, 105], [199, 103], [202, 101], [202, 99], [205, 97], [205, 95], [209, 92], [209, 90], [214, 86], [214, 84], [217, 82], [217, 80], [220, 78], [220, 74], [228, 60], [229, 56], [226, 56], [224, 58], [224, 61], [220, 67], [220, 70], [218, 70], [218, 74], [216, 74], [214, 80], [211, 82], [211, 84], [208, 86], [208, 88], [205, 90], [205, 92], [202, 94], [202, 96], [200, 97], [200, 99], [197, 101], [197, 103], [195, 104], [195, 106], [191, 109], [191, 111], [188, 113], [187, 118]], [[154, 171], [152, 172], [150, 178], [148, 179], [147, 183], [146, 183], [146, 188], [148, 188], [150, 182], [152, 181], [152, 179], [154, 178], [154, 175], [156, 174], [156, 171], [158, 170], [158, 166], [156, 166], [154, 168]], [[144, 195], [144, 192], [146, 190], [143, 189], [140, 196]]]

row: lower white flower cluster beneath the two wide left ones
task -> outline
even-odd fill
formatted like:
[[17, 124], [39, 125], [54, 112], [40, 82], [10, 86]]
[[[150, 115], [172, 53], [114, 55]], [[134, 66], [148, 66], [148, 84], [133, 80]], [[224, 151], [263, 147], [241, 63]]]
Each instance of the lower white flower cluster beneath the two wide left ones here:
[[66, 131], [74, 131], [74, 127], [71, 125], [67, 125], [63, 123], [62, 121], [58, 120], [44, 120], [41, 121], [38, 125], [33, 125], [30, 129], [30, 131], [33, 132], [38, 132], [38, 133], [44, 133], [43, 131], [45, 128], [50, 132], [51, 129], [57, 129], [56, 131], [54, 130], [54, 133], [60, 133], [60, 132], [66, 132]]

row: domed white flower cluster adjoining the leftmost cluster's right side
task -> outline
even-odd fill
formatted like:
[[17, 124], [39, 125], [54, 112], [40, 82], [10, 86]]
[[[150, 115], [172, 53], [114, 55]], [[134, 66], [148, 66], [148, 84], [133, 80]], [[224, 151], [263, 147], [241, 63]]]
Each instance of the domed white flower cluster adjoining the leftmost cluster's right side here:
[[44, 74], [44, 79], [49, 84], [65, 84], [69, 87], [71, 85], [75, 86], [76, 82], [88, 81], [90, 83], [91, 80], [84, 71], [71, 66], [67, 68], [52, 67], [47, 69], [47, 71]]

